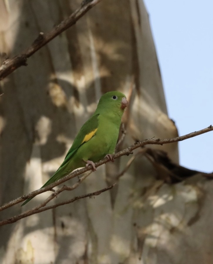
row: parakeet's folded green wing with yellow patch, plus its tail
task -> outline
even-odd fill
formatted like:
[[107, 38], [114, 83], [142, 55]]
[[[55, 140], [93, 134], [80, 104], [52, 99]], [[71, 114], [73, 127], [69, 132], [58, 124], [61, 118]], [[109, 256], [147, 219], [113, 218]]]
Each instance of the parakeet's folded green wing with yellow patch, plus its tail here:
[[[76, 136], [71, 148], [69, 149], [63, 163], [58, 168], [58, 170], [53, 174], [53, 176], [41, 187], [45, 187], [61, 178], [66, 176], [69, 172], [73, 171], [74, 169], [69, 162], [73, 155], [77, 152], [77, 150], [82, 146], [85, 142], [89, 141], [95, 135], [95, 132], [98, 130], [98, 116], [99, 114], [94, 114], [91, 116], [86, 123], [82, 126], [78, 135]], [[71, 168], [69, 168], [71, 166]], [[32, 197], [33, 198], [33, 197]], [[21, 206], [28, 203], [32, 198], [27, 199]]]

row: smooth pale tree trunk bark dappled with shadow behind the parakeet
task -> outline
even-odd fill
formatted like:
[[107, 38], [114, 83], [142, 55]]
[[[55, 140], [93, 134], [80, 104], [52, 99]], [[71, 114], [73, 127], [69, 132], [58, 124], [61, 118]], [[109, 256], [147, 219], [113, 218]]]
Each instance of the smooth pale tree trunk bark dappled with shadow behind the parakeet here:
[[[0, 0], [0, 51], [19, 54], [79, 4]], [[148, 137], [177, 136], [141, 0], [100, 2], [0, 85], [1, 203], [41, 187], [107, 91], [123, 91], [130, 101], [120, 149]], [[153, 148], [178, 162], [176, 143]], [[99, 167], [56, 201], [115, 182], [130, 158]], [[138, 154], [111, 191], [1, 227], [0, 263], [213, 263], [212, 189], [200, 177], [175, 185], [156, 180], [153, 163]], [[1, 212], [1, 219], [48, 195]]]

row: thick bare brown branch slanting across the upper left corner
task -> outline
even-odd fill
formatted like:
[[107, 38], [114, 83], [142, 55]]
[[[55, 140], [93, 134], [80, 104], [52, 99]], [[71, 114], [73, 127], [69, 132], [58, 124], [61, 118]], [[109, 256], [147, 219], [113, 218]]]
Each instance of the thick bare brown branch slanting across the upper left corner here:
[[80, 19], [87, 11], [100, 1], [101, 0], [82, 1], [81, 6], [76, 9], [76, 11], [74, 11], [67, 19], [64, 19], [60, 24], [55, 26], [50, 32], [40, 32], [38, 37], [33, 41], [33, 44], [28, 49], [11, 59], [5, 59], [0, 67], [0, 81], [20, 66], [27, 66], [27, 58], [32, 56], [37, 50], [41, 49], [63, 31], [76, 24], [78, 19]]

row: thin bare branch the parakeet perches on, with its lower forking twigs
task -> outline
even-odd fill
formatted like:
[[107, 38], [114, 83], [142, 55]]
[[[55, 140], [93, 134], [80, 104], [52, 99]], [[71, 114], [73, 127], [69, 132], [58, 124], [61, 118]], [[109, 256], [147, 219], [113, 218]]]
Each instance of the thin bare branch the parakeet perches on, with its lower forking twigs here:
[[[145, 139], [143, 141], [138, 141], [137, 143], [135, 143], [134, 145], [132, 146], [129, 146], [128, 148], [122, 150], [122, 151], [119, 151], [118, 153], [116, 153], [115, 155], [113, 155], [114, 159], [116, 158], [119, 158], [120, 156], [123, 156], [123, 155], [129, 155], [129, 154], [132, 154], [133, 150], [135, 150], [136, 148], [139, 148], [139, 147], [142, 147], [142, 146], [145, 146], [145, 145], [152, 145], [152, 144], [155, 144], [155, 145], [163, 145], [163, 144], [168, 144], [168, 143], [174, 143], [174, 142], [177, 142], [177, 141], [183, 141], [185, 139], [188, 139], [188, 138], [192, 138], [192, 137], [195, 137], [195, 136], [198, 136], [198, 135], [201, 135], [201, 134], [204, 134], [204, 133], [207, 133], [209, 131], [213, 131], [213, 127], [212, 125], [210, 125], [209, 127], [207, 128], [204, 128], [202, 130], [199, 130], [199, 131], [195, 131], [195, 132], [192, 132], [192, 133], [189, 133], [187, 135], [184, 135], [184, 136], [180, 136], [180, 137], [176, 137], [176, 138], [169, 138], [169, 139], [154, 139], [154, 138], [148, 138], [148, 139]], [[125, 168], [122, 173], [119, 174], [119, 177], [128, 169], [129, 165], [131, 164], [131, 161], [127, 164], [127, 168]], [[99, 167], [101, 166], [102, 164], [104, 163], [107, 163], [108, 162], [108, 159], [107, 158], [104, 158], [98, 162], [95, 163], [95, 167]], [[50, 185], [46, 186], [46, 187], [43, 187], [39, 190], [36, 190], [36, 191], [33, 191], [29, 194], [26, 194], [26, 195], [23, 195], [19, 198], [16, 198], [8, 203], [5, 203], [4, 205], [0, 206], [0, 211], [2, 210], [5, 210], [6, 208], [9, 208], [17, 203], [20, 203], [24, 200], [26, 200], [27, 198], [31, 198], [31, 197], [34, 197], [36, 196], [37, 194], [40, 194], [40, 193], [43, 193], [45, 191], [50, 191], [53, 187], [65, 182], [65, 181], [68, 181], [69, 179], [71, 178], [74, 178], [86, 171], [89, 171], [90, 169], [92, 168], [92, 166], [88, 166], [88, 168], [83, 168], [83, 169], [80, 169], [80, 170], [76, 170], [74, 171], [73, 173], [70, 173], [68, 174], [67, 176], [59, 179], [58, 181], [54, 182], [54, 183], [51, 183]], [[28, 215], [31, 215], [31, 214], [34, 214], [34, 213], [39, 213], [39, 212], [42, 212], [42, 211], [45, 211], [45, 210], [48, 210], [48, 209], [51, 209], [51, 208], [54, 208], [54, 207], [58, 207], [60, 205], [63, 205], [63, 204], [66, 204], [66, 203], [72, 203], [73, 201], [75, 200], [78, 200], [78, 199], [81, 199], [81, 198], [84, 198], [84, 197], [88, 197], [88, 196], [92, 196], [94, 194], [87, 194], [85, 196], [78, 196], [77, 198], [73, 198], [69, 201], [66, 201], [66, 202], [63, 202], [63, 203], [58, 203], [56, 205], [52, 205], [52, 206], [46, 206], [44, 207], [50, 200], [52, 200], [54, 197], [56, 197], [59, 193], [61, 193], [62, 191], [64, 190], [73, 190], [74, 188], [77, 188], [79, 186], [79, 184], [86, 178], [88, 177], [88, 175], [85, 175], [85, 176], [82, 176], [79, 181], [77, 183], [75, 183], [72, 187], [67, 187], [67, 186], [63, 186], [62, 188], [58, 189], [57, 191], [55, 191], [53, 194], [51, 194], [51, 196], [49, 196], [43, 203], [41, 203], [40, 205], [38, 205], [37, 207], [31, 209], [31, 210], [28, 210], [26, 211], [25, 213], [22, 213], [18, 216], [14, 216], [12, 218], [9, 218], [9, 219], [6, 219], [6, 220], [3, 220], [3, 221], [0, 221], [0, 225], [5, 225], [5, 224], [8, 224], [8, 223], [14, 223], [16, 222], [17, 220], [21, 219], [21, 218], [24, 218]], [[118, 177], [118, 178], [119, 178]], [[113, 185], [114, 186], [114, 185]], [[113, 186], [110, 186], [109, 188], [113, 188]], [[100, 191], [98, 191], [99, 193], [103, 192], [108, 190], [107, 188], [105, 189], [102, 189]], [[96, 192], [95, 192], [96, 193]], [[96, 194], [97, 195], [97, 194]], [[79, 198], [80, 197], [80, 198]], [[44, 207], [44, 208], [41, 208], [41, 207]]]

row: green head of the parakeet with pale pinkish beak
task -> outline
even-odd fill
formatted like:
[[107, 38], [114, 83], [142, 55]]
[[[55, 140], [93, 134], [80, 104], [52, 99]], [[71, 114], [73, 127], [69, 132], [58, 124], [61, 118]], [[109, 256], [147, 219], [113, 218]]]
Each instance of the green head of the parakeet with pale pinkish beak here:
[[119, 91], [112, 91], [105, 93], [101, 96], [97, 110], [104, 109], [105, 111], [117, 110], [123, 113], [124, 109], [128, 106], [126, 96]]

